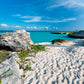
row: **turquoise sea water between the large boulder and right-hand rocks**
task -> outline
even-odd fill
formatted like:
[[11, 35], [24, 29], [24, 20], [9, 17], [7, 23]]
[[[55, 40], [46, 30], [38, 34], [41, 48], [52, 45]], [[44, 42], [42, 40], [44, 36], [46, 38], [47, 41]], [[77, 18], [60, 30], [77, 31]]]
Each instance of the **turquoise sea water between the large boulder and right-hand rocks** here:
[[54, 39], [73, 40], [66, 34], [51, 34], [50, 32], [30, 32], [30, 37], [34, 43], [49, 43]]

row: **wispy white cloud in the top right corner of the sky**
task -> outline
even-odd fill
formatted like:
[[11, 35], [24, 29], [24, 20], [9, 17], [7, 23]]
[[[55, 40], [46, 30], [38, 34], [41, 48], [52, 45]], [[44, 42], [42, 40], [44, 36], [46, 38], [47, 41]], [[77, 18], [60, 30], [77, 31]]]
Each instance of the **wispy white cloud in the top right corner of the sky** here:
[[67, 7], [67, 8], [76, 8], [76, 7], [84, 7], [83, 0], [56, 0], [53, 1], [52, 5], [49, 5], [47, 8], [57, 8], [57, 7]]

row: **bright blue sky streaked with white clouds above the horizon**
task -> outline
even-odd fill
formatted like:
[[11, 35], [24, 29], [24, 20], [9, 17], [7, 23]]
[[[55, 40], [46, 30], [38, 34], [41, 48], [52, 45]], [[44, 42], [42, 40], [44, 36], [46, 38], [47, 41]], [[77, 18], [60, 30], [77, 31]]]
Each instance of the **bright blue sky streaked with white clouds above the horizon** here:
[[84, 0], [0, 0], [0, 30], [84, 30]]

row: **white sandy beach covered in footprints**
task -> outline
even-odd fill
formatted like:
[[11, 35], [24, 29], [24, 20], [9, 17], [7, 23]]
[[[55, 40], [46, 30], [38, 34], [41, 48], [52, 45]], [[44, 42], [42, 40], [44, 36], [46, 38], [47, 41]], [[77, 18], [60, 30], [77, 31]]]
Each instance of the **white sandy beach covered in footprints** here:
[[84, 84], [84, 47], [47, 47], [32, 58], [25, 84]]

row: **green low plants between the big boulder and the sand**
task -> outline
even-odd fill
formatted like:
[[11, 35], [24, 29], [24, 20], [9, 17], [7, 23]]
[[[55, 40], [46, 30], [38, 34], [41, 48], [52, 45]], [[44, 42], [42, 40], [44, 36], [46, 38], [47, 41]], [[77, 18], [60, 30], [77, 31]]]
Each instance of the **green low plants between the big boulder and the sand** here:
[[[43, 45], [30, 45], [31, 50], [23, 50], [20, 52], [17, 52], [20, 62], [18, 64], [20, 65], [20, 68], [24, 71], [32, 71], [32, 68], [30, 65], [27, 64], [27, 62], [30, 62], [31, 59], [25, 59], [26, 57], [35, 57], [35, 54], [39, 51], [45, 51], [45, 46]], [[26, 66], [25, 66], [26, 64]]]

